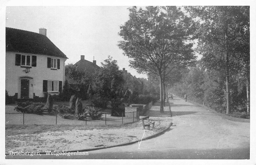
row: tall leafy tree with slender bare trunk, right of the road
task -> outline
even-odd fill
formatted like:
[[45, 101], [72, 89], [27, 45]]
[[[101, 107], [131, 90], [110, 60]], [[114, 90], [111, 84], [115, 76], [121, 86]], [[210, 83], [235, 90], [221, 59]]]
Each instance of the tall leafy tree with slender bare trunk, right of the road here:
[[[247, 6], [193, 6], [186, 7], [198, 20], [198, 50], [205, 64], [226, 76], [226, 114], [230, 110], [230, 75], [240, 55], [248, 62], [249, 8]], [[199, 18], [199, 19], [198, 19]], [[239, 41], [243, 38], [243, 46]]]

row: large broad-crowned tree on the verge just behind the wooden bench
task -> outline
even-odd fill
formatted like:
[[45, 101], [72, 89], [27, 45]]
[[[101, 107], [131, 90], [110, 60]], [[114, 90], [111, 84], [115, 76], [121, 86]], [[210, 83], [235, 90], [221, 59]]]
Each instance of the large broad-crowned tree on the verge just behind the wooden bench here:
[[129, 11], [130, 19], [120, 26], [123, 41], [118, 46], [133, 59], [130, 66], [137, 72], [159, 77], [160, 112], [164, 112], [164, 77], [170, 72], [167, 68], [194, 59], [193, 44], [185, 43], [193, 37], [193, 21], [176, 6], [132, 7]]

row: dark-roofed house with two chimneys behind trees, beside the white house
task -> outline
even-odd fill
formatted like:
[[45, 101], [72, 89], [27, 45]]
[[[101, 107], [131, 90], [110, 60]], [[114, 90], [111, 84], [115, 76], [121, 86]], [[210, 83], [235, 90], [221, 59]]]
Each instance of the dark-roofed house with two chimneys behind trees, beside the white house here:
[[[93, 59], [92, 62], [84, 60], [84, 55], [81, 55], [81, 59], [74, 65], [78, 67], [79, 71], [86, 72], [88, 74], [95, 74], [101, 70], [101, 67], [96, 65], [96, 60]], [[69, 75], [66, 75], [65, 80], [67, 80], [68, 84], [77, 84], [77, 82], [69, 78]]]

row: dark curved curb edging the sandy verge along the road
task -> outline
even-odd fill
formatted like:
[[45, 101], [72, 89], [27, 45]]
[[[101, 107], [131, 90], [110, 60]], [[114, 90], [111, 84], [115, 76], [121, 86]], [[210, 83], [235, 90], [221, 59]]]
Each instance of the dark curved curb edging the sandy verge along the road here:
[[[154, 134], [154, 135], [151, 135], [151, 136], [149, 136], [149, 137], [145, 137], [145, 138], [143, 138], [142, 140], [152, 139], [152, 138], [154, 138], [154, 137], [156, 137], [156, 136], [159, 136], [159, 135], [163, 134], [164, 132], [167, 131], [167, 129], [170, 128], [170, 126], [172, 126], [172, 124], [173, 124], [173, 123], [171, 122], [171, 123], [169, 124], [169, 126], [168, 126], [167, 128], [165, 128], [163, 131], [158, 132], [158, 133], [156, 133], [156, 134]], [[141, 141], [142, 141], [142, 140], [141, 140]], [[78, 152], [85, 152], [85, 151], [94, 151], [94, 150], [100, 150], [100, 149], [105, 149], [105, 148], [126, 146], [126, 145], [130, 145], [130, 144], [134, 144], [134, 143], [138, 143], [138, 141], [136, 140], [136, 141], [129, 142], [129, 143], [123, 143], [123, 144], [114, 145], [114, 146], [106, 146], [106, 147], [101, 147], [101, 148], [90, 148], [90, 149], [82, 149], [82, 150], [60, 151], [60, 152], [77, 152], [77, 151], [78, 151]], [[39, 152], [39, 154], [46, 154], [46, 153], [45, 153], [45, 152]], [[9, 155], [9, 153], [5, 153], [5, 155]]]

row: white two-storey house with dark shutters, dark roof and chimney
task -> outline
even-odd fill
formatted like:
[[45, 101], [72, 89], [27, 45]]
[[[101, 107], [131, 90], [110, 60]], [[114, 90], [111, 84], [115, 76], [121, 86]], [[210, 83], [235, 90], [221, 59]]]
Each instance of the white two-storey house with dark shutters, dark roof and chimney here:
[[65, 61], [62, 53], [39, 33], [6, 27], [5, 86], [16, 99], [44, 97], [46, 92], [58, 94], [65, 81]]

